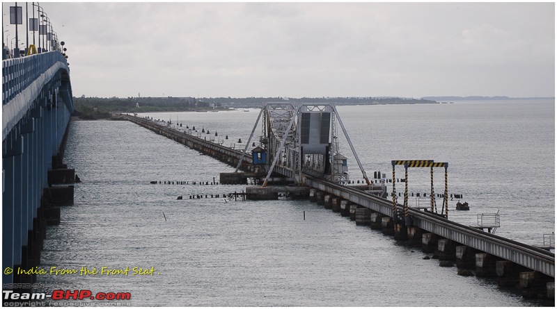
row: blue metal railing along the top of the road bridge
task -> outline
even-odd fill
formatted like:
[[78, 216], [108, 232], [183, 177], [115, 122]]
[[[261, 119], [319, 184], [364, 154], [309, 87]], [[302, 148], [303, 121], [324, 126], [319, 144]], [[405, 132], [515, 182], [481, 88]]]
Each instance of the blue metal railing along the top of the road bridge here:
[[56, 62], [63, 62], [68, 67], [68, 62], [59, 51], [2, 60], [2, 105], [29, 87]]

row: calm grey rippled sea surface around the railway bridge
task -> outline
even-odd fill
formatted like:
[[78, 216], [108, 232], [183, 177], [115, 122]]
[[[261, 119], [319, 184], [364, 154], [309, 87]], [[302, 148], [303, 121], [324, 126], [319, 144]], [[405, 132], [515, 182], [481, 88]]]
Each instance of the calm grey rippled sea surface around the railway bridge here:
[[[553, 100], [535, 100], [338, 111], [370, 178], [374, 171], [390, 178], [391, 160], [449, 162], [449, 193], [470, 206], [459, 212], [450, 201], [449, 219], [476, 224], [477, 214], [499, 211], [497, 235], [541, 245], [555, 228], [554, 108]], [[218, 139], [228, 135], [229, 146], [248, 140], [258, 110], [146, 115], [209, 130], [207, 140], [215, 131]], [[344, 137], [341, 144], [351, 178], [362, 180]], [[191, 184], [218, 181], [234, 168], [130, 122], [72, 122], [64, 161], [83, 182], [74, 206], [62, 208], [61, 224], [47, 231], [41, 268], [78, 274], [38, 276], [45, 284], [38, 292], [130, 292], [133, 306], [553, 305], [457, 276], [455, 267], [423, 260], [420, 249], [309, 201], [189, 199], [244, 186]], [[429, 169], [409, 169], [409, 192], [429, 192], [429, 177]], [[443, 169], [434, 187], [443, 192]], [[81, 276], [81, 267], [130, 270]], [[134, 267], [155, 270], [132, 275]]]

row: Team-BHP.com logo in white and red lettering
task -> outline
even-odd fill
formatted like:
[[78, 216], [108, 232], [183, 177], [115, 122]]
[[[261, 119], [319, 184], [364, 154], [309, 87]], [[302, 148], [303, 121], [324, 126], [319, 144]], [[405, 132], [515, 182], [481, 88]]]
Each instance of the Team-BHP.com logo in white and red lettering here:
[[31, 301], [43, 299], [52, 299], [53, 301], [81, 301], [84, 299], [95, 301], [123, 301], [132, 298], [130, 292], [98, 292], [93, 294], [91, 290], [54, 290], [50, 295], [46, 293], [15, 293], [13, 291], [3, 290], [2, 294], [4, 301]]

